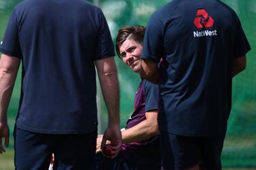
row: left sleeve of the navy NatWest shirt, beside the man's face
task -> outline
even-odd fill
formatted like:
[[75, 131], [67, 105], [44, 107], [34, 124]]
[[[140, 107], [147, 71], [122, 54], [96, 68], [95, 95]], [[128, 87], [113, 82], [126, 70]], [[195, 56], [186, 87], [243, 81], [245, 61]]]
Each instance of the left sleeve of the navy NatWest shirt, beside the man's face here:
[[164, 26], [158, 13], [153, 13], [147, 23], [143, 41], [143, 53], [141, 58], [159, 63], [164, 52], [163, 41]]

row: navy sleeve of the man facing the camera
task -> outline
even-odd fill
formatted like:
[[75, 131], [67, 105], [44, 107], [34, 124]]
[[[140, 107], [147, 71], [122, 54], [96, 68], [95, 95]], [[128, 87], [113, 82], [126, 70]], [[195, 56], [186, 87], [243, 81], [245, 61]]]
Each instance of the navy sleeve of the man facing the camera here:
[[145, 111], [158, 109], [159, 85], [145, 81]]

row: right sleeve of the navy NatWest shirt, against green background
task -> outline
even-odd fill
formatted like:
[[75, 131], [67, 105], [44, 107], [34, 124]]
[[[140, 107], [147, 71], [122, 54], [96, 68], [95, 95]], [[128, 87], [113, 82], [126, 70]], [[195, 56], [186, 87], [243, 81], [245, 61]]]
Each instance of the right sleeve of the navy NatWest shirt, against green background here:
[[234, 42], [234, 58], [240, 58], [251, 50], [249, 42], [242, 30], [241, 22], [236, 16], [236, 38]]

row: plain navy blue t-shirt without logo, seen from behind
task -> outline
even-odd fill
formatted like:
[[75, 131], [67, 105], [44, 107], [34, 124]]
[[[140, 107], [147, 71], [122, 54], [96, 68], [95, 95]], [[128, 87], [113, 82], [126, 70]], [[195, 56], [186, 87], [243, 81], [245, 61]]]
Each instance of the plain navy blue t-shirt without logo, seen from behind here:
[[22, 60], [16, 125], [39, 133], [95, 131], [94, 62], [114, 56], [103, 12], [84, 0], [16, 5], [1, 52]]

